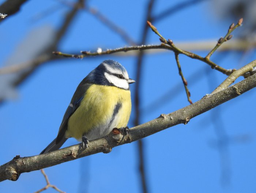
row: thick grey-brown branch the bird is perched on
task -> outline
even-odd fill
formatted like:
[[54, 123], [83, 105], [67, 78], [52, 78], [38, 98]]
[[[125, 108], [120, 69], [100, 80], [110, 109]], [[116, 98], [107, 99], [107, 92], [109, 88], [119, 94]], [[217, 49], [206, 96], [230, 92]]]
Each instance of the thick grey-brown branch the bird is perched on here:
[[[130, 129], [129, 136], [110, 133], [101, 139], [90, 141], [89, 150], [82, 149], [81, 144], [73, 145], [48, 154], [20, 158], [16, 156], [10, 162], [0, 166], [0, 181], [6, 179], [17, 180], [21, 173], [39, 170], [54, 166], [84, 156], [99, 152], [109, 153], [113, 147], [123, 145], [153, 135], [161, 130], [177, 124], [187, 124], [193, 117], [198, 116], [222, 103], [229, 101], [244, 92], [256, 87], [256, 74], [225, 88], [215, 94], [204, 96], [201, 100], [170, 114], [161, 114], [160, 117]], [[123, 139], [123, 140], [120, 140]], [[117, 140], [119, 141], [117, 143]]]

